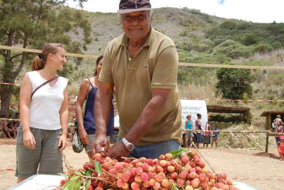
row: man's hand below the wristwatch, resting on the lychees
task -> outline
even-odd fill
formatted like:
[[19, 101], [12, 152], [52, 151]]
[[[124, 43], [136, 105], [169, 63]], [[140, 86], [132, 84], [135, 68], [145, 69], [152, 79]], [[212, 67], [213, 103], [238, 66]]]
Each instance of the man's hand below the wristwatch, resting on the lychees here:
[[123, 159], [121, 157], [128, 157], [129, 154], [130, 151], [125, 148], [125, 145], [122, 141], [119, 141], [111, 147], [108, 156], [117, 159], [118, 161], [122, 161]]

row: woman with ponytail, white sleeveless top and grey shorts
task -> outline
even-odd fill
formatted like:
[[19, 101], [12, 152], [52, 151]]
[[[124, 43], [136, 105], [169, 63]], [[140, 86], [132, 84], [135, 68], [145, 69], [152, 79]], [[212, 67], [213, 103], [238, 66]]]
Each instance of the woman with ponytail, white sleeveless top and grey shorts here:
[[65, 47], [48, 43], [32, 62], [20, 90], [21, 124], [16, 154], [18, 182], [37, 173], [63, 172], [61, 151], [68, 128], [68, 80], [58, 77], [66, 64]]

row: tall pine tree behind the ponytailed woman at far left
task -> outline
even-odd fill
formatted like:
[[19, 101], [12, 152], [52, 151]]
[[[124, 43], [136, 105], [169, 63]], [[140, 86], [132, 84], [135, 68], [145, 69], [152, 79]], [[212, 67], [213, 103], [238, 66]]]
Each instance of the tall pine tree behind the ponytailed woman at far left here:
[[[82, 6], [82, 2], [78, 3]], [[67, 51], [80, 53], [91, 43], [89, 21], [80, 10], [64, 7], [66, 1], [56, 0], [3, 0], [0, 1], [0, 44], [41, 49], [48, 42], [63, 43]], [[83, 33], [82, 39], [73, 41], [70, 34]], [[16, 77], [35, 54], [0, 49], [4, 57], [0, 65], [4, 83], [15, 83]], [[1, 114], [8, 113], [13, 86], [2, 85]]]

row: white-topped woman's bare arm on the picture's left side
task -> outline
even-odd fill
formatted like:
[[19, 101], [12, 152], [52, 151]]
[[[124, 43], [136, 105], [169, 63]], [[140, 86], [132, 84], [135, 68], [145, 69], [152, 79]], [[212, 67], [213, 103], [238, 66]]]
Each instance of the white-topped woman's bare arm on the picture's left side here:
[[35, 138], [30, 131], [30, 103], [32, 95], [32, 84], [26, 74], [20, 89], [20, 117], [23, 129], [23, 141], [27, 148], [35, 149]]

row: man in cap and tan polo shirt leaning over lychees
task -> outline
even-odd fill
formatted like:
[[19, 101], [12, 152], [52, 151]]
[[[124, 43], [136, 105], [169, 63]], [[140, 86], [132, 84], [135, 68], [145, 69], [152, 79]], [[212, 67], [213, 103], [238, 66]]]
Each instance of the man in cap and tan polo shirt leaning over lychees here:
[[[173, 41], [151, 28], [149, 0], [121, 0], [124, 35], [104, 54], [95, 101], [96, 140], [108, 156], [157, 158], [180, 148], [181, 107], [177, 89], [178, 55]], [[106, 124], [113, 89], [120, 117], [118, 142], [109, 147]]]

